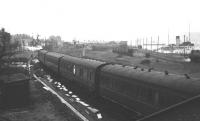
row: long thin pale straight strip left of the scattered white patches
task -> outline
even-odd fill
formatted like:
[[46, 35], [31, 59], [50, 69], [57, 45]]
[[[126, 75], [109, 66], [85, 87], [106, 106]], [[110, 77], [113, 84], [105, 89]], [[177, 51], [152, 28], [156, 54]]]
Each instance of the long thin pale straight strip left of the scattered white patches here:
[[84, 117], [79, 111], [77, 111], [72, 105], [70, 105], [67, 101], [65, 101], [58, 93], [56, 93], [53, 89], [47, 86], [41, 79], [39, 79], [35, 74], [33, 74], [34, 78], [36, 78], [40, 83], [42, 83], [46, 88], [46, 90], [50, 91], [54, 95], [56, 95], [62, 103], [64, 103], [67, 107], [69, 107], [80, 119], [83, 121], [89, 121], [86, 117]]

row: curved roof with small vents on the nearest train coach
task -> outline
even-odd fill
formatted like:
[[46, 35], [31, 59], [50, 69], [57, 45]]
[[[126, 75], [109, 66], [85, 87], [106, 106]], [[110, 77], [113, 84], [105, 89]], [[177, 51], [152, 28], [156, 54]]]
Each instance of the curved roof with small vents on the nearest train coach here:
[[[153, 84], [160, 87], [166, 87], [172, 90], [184, 92], [186, 94], [200, 93], [200, 79], [189, 78], [184, 75], [168, 74], [164, 72], [142, 70], [141, 68], [134, 69], [131, 66], [122, 66], [118, 64], [106, 65], [102, 72], [118, 75], [125, 78], [130, 78], [138, 83]], [[192, 96], [192, 95], [190, 95]]]

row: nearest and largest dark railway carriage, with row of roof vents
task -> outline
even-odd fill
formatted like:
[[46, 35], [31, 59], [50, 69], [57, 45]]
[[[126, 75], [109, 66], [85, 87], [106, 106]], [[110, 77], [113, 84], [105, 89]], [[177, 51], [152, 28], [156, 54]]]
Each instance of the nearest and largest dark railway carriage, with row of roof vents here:
[[200, 83], [185, 76], [106, 65], [100, 71], [100, 95], [129, 109], [150, 114], [200, 92]]

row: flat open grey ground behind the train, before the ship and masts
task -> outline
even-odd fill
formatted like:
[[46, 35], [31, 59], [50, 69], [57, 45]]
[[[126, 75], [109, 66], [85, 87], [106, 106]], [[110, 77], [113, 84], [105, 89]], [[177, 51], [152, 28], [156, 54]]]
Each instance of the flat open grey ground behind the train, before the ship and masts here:
[[[60, 53], [69, 54], [72, 56], [80, 57], [80, 51], [61, 51]], [[170, 54], [165, 56], [152, 56], [150, 58], [145, 58], [141, 56], [119, 56], [116, 53], [112, 53], [111, 50], [108, 51], [86, 51], [86, 58], [92, 58], [96, 60], [102, 60], [107, 62], [115, 62], [123, 65], [139, 66], [141, 68], [154, 68], [158, 71], [168, 71], [174, 74], [189, 74], [192, 77], [200, 77], [200, 65], [199, 63], [188, 63], [183, 61], [183, 57], [172, 57]], [[159, 57], [159, 58], [156, 58]], [[147, 63], [142, 63], [142, 61], [149, 60]], [[170, 61], [171, 60], [171, 61]]]

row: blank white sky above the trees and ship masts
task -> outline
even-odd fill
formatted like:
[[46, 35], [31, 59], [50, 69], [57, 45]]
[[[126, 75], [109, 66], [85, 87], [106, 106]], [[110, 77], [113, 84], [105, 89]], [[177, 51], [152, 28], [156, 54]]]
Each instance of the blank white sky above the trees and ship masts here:
[[[200, 32], [198, 0], [0, 0], [0, 28], [64, 41], [128, 41]], [[190, 27], [189, 27], [190, 26]], [[190, 28], [190, 29], [189, 29]]]

